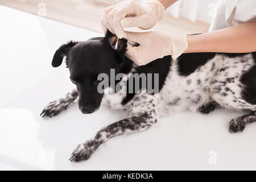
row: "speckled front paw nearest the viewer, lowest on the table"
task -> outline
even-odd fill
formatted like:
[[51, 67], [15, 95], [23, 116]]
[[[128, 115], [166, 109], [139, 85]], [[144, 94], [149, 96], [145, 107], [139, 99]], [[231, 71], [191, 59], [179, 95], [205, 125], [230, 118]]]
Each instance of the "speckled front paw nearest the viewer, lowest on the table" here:
[[90, 158], [92, 153], [100, 146], [101, 140], [91, 139], [85, 143], [79, 144], [76, 149], [72, 152], [69, 160], [71, 162], [80, 162], [81, 160], [87, 160]]

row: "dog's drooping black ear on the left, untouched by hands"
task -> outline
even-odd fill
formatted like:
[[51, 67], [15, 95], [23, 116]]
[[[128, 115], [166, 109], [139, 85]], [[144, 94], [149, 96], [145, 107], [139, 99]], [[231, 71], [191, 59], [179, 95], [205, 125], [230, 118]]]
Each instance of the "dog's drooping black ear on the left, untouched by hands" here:
[[52, 67], [59, 67], [63, 61], [63, 57], [68, 55], [69, 50], [74, 47], [79, 42], [69, 41], [67, 44], [63, 44], [55, 52], [52, 59]]

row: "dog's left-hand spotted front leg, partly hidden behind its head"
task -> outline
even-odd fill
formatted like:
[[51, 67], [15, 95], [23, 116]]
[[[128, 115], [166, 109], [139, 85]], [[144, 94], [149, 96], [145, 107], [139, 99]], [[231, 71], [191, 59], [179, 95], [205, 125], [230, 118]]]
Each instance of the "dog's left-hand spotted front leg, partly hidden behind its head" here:
[[61, 110], [67, 109], [68, 105], [75, 101], [78, 96], [79, 92], [77, 92], [77, 90], [72, 90], [72, 92], [67, 93], [64, 98], [50, 102], [44, 107], [40, 115], [42, 115], [42, 117], [47, 116], [51, 118], [59, 114]]

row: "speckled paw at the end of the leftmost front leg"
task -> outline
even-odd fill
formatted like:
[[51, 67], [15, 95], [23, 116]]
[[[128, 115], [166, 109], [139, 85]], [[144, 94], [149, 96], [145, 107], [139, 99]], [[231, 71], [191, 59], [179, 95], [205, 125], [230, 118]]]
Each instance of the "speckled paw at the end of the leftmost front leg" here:
[[61, 103], [59, 100], [50, 102], [46, 107], [44, 107], [42, 117], [53, 117], [60, 113], [61, 110], [66, 109], [67, 105]]

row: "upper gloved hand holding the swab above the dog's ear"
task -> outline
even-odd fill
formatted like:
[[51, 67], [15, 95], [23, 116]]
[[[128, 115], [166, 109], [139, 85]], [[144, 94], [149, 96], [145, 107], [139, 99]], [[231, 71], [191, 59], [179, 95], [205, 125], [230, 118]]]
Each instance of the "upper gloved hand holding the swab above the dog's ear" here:
[[122, 39], [125, 36], [123, 28], [152, 28], [163, 14], [164, 6], [158, 1], [150, 0], [141, 5], [135, 1], [123, 1], [104, 10], [101, 27]]

